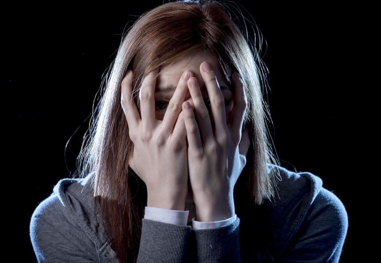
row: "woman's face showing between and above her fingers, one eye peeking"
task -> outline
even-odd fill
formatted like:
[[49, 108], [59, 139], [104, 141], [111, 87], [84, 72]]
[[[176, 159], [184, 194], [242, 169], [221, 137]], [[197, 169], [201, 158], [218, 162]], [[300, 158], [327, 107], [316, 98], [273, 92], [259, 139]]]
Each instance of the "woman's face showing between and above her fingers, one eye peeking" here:
[[[165, 66], [160, 69], [160, 75], [156, 81], [155, 87], [155, 113], [156, 119], [163, 120], [164, 113], [167, 110], [170, 98], [177, 86], [177, 83], [185, 70], [192, 72], [199, 82], [201, 93], [204, 97], [204, 102], [209, 109], [210, 116], [211, 108], [209, 103], [208, 91], [206, 89], [204, 80], [200, 74], [200, 64], [203, 61], [207, 61], [212, 65], [214, 74], [216, 75], [219, 88], [223, 96], [225, 97], [225, 109], [226, 109], [226, 119], [233, 108], [233, 93], [231, 86], [224, 77], [221, 68], [217, 62], [214, 55], [208, 51], [199, 51], [195, 54], [184, 57], [180, 61], [173, 63], [171, 65]], [[185, 100], [190, 99], [190, 93], [188, 91]]]

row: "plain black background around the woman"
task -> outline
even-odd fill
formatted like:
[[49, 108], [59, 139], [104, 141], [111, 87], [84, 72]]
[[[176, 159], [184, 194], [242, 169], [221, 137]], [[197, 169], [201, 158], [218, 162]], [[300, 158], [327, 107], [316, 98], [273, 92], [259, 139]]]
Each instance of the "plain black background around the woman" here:
[[[11, 116], [4, 128], [11, 147], [3, 179], [11, 200], [7, 218], [16, 224], [9, 240], [31, 262], [30, 217], [55, 183], [75, 170], [86, 118], [122, 32], [162, 3], [128, 2], [16, 4], [3, 10], [3, 115]], [[364, 92], [371, 17], [355, 4], [238, 2], [267, 41], [263, 59], [277, 153], [286, 167], [320, 176], [342, 200], [349, 228], [341, 262], [360, 258], [365, 207], [358, 194], [372, 174], [366, 117], [371, 94]]]

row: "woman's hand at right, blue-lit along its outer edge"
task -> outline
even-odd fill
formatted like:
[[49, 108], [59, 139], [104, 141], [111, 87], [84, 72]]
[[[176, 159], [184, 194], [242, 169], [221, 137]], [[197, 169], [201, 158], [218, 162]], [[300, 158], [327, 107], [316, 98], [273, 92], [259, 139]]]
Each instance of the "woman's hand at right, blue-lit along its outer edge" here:
[[[211, 102], [212, 116], [204, 103], [196, 77], [188, 80], [194, 111], [182, 105], [188, 140], [188, 170], [197, 221], [220, 221], [234, 216], [233, 189], [246, 164], [247, 131], [242, 134], [246, 111], [245, 90], [238, 73], [232, 74], [234, 105], [226, 123], [224, 96], [209, 63], [200, 65]], [[214, 130], [212, 128], [214, 123]]]

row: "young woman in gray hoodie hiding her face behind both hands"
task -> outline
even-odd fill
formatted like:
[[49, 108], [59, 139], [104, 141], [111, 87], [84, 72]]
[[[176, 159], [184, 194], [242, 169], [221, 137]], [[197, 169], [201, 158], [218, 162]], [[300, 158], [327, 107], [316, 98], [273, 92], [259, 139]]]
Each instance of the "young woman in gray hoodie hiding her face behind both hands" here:
[[339, 261], [345, 208], [278, 165], [261, 60], [228, 9], [169, 2], [130, 28], [81, 178], [32, 216], [39, 262]]

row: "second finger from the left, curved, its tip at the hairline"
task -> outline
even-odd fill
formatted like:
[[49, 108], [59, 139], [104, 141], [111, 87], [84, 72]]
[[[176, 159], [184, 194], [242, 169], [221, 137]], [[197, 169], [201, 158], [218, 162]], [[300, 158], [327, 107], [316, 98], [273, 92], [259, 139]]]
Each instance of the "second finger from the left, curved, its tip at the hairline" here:
[[139, 91], [141, 120], [145, 127], [152, 127], [155, 123], [155, 86], [158, 70], [154, 70], [143, 79]]

